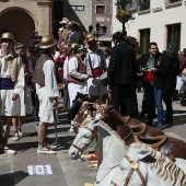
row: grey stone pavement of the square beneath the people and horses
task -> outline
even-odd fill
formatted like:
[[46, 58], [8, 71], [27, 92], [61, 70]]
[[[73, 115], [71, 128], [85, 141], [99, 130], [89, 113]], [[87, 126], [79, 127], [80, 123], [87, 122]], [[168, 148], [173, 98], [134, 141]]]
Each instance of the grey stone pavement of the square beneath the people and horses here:
[[[142, 93], [138, 93], [139, 109]], [[181, 106], [178, 101], [174, 105], [174, 125], [163, 131], [186, 141], [186, 107]], [[61, 106], [61, 104], [60, 104]], [[69, 132], [70, 123], [66, 119], [66, 113], [59, 107], [58, 120], [58, 150], [56, 155], [37, 154], [36, 123], [28, 117], [23, 125], [24, 137], [13, 141], [13, 131], [9, 140], [10, 147], [18, 154], [0, 154], [0, 186], [84, 186], [84, 183], [93, 183], [96, 168], [86, 167], [80, 160], [71, 160], [68, 149], [74, 138]], [[49, 127], [48, 142], [55, 144], [55, 128]], [[27, 174], [28, 165], [51, 165], [53, 175]]]

